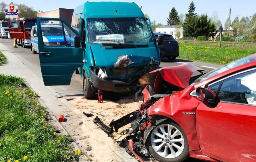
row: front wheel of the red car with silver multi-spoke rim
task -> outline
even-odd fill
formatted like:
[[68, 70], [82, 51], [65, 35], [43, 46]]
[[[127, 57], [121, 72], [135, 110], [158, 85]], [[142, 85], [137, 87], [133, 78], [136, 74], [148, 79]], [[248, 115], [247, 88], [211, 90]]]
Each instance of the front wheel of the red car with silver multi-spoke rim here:
[[[165, 120], [152, 127], [145, 145], [153, 158], [160, 162], [182, 162], [189, 157], [188, 140], [178, 124], [171, 120]], [[165, 132], [160, 133], [161, 130]], [[177, 142], [172, 142], [173, 140]]]

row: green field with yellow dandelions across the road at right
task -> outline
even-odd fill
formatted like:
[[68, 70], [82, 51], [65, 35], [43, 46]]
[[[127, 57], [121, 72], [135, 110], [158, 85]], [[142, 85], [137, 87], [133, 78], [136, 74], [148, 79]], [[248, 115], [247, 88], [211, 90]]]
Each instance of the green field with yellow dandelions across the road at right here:
[[256, 53], [254, 43], [228, 43], [219, 44], [209, 41], [179, 41], [179, 59], [227, 64], [234, 60]]

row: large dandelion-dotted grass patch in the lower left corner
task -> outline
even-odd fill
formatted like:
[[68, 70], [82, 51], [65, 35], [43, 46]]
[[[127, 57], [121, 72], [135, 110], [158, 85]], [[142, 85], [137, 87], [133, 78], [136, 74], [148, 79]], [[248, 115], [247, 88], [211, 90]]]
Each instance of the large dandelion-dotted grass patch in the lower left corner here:
[[0, 161], [77, 161], [81, 152], [56, 134], [37, 97], [21, 78], [0, 74]]

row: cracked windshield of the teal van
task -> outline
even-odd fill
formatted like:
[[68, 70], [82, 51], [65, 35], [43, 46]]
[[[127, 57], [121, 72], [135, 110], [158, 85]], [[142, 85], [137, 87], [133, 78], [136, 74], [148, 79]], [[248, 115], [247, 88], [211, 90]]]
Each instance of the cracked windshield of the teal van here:
[[126, 43], [153, 41], [145, 18], [88, 18], [87, 29], [90, 43], [95, 43], [97, 35], [109, 34], [123, 34]]

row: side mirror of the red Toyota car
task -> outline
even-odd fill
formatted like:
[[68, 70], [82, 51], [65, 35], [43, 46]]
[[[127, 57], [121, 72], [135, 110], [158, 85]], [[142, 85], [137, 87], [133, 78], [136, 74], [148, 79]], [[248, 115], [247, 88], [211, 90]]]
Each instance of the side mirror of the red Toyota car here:
[[198, 87], [196, 89], [196, 96], [201, 101], [206, 101], [209, 103], [215, 103], [216, 101], [216, 94], [208, 88]]

